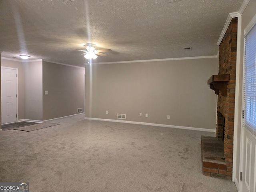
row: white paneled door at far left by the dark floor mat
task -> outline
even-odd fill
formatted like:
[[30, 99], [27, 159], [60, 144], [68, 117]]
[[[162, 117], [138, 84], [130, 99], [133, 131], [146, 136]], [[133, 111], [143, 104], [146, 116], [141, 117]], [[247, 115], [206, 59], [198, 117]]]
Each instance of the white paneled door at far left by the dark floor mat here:
[[1, 68], [2, 124], [16, 122], [16, 70]]

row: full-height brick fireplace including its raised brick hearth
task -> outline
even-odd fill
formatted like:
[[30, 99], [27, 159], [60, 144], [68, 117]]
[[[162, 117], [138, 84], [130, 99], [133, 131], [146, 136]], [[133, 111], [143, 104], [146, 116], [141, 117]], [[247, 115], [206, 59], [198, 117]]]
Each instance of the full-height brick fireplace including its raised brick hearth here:
[[225, 91], [214, 89], [218, 94], [216, 138], [202, 136], [203, 174], [228, 180], [233, 167], [237, 21], [231, 20], [220, 43], [218, 75], [229, 75], [229, 81], [224, 83]]

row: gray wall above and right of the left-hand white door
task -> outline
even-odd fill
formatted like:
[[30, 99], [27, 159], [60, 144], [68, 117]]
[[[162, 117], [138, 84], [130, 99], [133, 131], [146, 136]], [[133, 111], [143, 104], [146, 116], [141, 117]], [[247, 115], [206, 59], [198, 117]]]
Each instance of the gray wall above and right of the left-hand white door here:
[[6, 60], [1, 58], [1, 66], [18, 68], [18, 118], [24, 119], [24, 70], [23, 64], [19, 61]]

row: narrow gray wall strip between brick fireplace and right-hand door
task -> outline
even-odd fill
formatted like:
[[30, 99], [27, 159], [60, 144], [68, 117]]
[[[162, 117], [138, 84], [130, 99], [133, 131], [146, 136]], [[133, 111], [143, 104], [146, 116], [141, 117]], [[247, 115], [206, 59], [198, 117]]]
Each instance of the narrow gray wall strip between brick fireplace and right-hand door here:
[[[240, 52], [237, 53], [237, 55], [240, 57], [240, 60], [237, 63], [236, 70], [239, 71], [239, 76], [236, 76], [236, 100], [238, 100], [238, 104], [235, 106], [237, 108], [238, 113], [235, 116], [235, 120], [237, 120], [237, 127], [235, 128], [236, 133], [234, 138], [237, 141], [237, 148], [236, 148], [236, 179], [239, 181], [239, 164], [240, 164], [240, 137], [242, 134], [241, 130], [241, 117], [242, 117], [242, 87], [243, 87], [243, 64], [244, 64], [244, 29], [249, 24], [249, 22], [252, 20], [254, 15], [256, 14], [256, 0], [250, 0], [248, 5], [246, 6], [246, 9], [244, 10], [242, 14], [242, 19], [238, 20], [238, 22], [241, 22], [241, 29], [238, 28], [238, 31], [241, 32], [241, 40], [238, 42], [238, 46], [240, 49]], [[235, 154], [235, 153], [234, 153]]]

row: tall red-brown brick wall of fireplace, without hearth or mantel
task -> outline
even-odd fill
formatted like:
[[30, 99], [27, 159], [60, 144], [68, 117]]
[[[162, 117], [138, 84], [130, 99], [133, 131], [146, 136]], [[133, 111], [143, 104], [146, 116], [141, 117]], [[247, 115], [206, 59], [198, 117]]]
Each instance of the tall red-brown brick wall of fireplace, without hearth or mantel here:
[[[233, 140], [234, 140], [234, 106], [236, 86], [236, 37], [237, 18], [233, 18], [226, 34], [220, 43], [219, 73], [230, 74], [227, 84], [227, 96], [218, 95], [217, 137], [223, 137], [224, 125], [224, 157], [226, 160], [226, 178], [232, 179]], [[224, 118], [223, 118], [224, 117]]]

